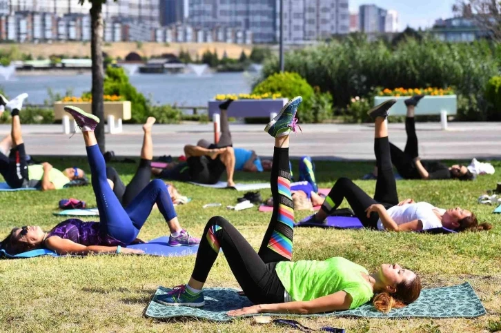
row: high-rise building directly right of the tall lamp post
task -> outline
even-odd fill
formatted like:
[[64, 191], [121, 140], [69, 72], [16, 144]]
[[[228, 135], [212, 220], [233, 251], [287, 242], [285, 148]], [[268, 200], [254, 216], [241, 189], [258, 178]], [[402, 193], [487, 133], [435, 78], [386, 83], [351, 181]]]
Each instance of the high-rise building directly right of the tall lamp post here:
[[[277, 27], [279, 39], [279, 0]], [[284, 41], [316, 41], [349, 32], [348, 0], [284, 0]]]

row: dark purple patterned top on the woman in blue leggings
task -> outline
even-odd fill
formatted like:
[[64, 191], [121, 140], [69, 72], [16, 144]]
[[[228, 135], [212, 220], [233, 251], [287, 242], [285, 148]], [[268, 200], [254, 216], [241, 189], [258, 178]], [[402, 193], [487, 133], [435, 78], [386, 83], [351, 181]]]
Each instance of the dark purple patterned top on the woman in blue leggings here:
[[99, 222], [83, 222], [79, 219], [62, 221], [50, 230], [47, 238], [59, 236], [81, 245], [125, 246], [126, 244], [101, 232]]

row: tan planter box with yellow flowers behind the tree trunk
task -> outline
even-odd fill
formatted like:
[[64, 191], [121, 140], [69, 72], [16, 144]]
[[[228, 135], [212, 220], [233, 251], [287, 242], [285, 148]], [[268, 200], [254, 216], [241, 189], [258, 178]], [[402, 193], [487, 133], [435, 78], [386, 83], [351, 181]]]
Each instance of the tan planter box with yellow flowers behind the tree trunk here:
[[[92, 113], [92, 105], [90, 102], [56, 102], [54, 103], [54, 116], [56, 120], [63, 119], [64, 116], [71, 117], [71, 114], [64, 111], [66, 105], [73, 105], [81, 108], [83, 111]], [[113, 116], [115, 119], [129, 120], [131, 118], [130, 101], [104, 102], [104, 117]]]

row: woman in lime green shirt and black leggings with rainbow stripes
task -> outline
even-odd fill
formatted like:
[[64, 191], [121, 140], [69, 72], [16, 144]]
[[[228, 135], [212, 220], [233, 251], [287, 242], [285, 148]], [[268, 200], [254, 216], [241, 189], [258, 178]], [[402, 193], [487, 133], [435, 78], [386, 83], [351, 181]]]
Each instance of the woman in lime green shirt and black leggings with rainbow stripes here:
[[[279, 115], [266, 126], [275, 137], [271, 192], [273, 215], [256, 253], [233, 225], [220, 216], [210, 219], [187, 285], [155, 297], [166, 305], [202, 307], [202, 287], [219, 249], [235, 274], [239, 285], [256, 305], [228, 312], [230, 316], [261, 312], [309, 314], [348, 310], [369, 302], [386, 312], [392, 307], [413, 303], [420, 295], [419, 276], [399, 265], [384, 264], [373, 274], [347, 259], [292, 262], [294, 206], [291, 198], [291, 173], [288, 145], [291, 129], [295, 130], [295, 113], [302, 98], [287, 103]], [[374, 297], [374, 294], [377, 296]]]

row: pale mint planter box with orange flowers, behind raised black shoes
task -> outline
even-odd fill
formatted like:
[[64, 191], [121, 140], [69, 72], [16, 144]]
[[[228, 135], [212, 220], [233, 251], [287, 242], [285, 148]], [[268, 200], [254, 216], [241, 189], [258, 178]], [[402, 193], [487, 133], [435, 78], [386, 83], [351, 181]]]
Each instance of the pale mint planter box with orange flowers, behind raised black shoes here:
[[[407, 114], [407, 107], [404, 101], [408, 99], [406, 97], [391, 97], [391, 96], [377, 96], [374, 97], [374, 105], [378, 105], [389, 99], [396, 99], [397, 103], [391, 107], [391, 116], [405, 116]], [[415, 115], [431, 115], [431, 114], [442, 114], [446, 112], [446, 115], [457, 114], [458, 113], [458, 97], [456, 95], [445, 95], [445, 96], [425, 96], [417, 107], [415, 108]]]

